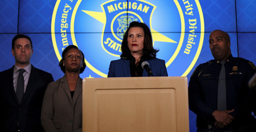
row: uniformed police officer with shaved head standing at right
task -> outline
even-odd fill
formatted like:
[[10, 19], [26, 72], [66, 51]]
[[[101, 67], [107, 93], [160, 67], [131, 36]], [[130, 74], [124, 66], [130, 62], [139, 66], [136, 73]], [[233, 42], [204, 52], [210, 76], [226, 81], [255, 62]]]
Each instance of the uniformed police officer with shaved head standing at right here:
[[197, 131], [254, 130], [256, 119], [251, 112], [255, 102], [247, 84], [256, 72], [255, 65], [232, 56], [230, 38], [224, 31], [212, 31], [209, 43], [214, 60], [196, 67], [188, 87]]

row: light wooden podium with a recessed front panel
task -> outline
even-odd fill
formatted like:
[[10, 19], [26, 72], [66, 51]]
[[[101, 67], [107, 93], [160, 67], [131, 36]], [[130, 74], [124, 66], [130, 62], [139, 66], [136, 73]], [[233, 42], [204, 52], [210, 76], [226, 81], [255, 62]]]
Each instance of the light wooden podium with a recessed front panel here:
[[187, 77], [83, 80], [83, 132], [188, 131]]

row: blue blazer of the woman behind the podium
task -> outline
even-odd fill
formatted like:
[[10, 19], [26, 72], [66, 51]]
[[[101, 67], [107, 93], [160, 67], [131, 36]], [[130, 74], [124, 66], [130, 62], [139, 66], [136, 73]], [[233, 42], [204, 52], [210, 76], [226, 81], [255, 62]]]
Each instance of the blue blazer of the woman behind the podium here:
[[[147, 60], [149, 63], [149, 68], [151, 68], [154, 76], [168, 76], [165, 61], [162, 59], [150, 59]], [[147, 77], [148, 73], [144, 69], [142, 77]], [[130, 73], [130, 60], [128, 59], [118, 59], [110, 62], [108, 69], [108, 77], [131, 77]]]

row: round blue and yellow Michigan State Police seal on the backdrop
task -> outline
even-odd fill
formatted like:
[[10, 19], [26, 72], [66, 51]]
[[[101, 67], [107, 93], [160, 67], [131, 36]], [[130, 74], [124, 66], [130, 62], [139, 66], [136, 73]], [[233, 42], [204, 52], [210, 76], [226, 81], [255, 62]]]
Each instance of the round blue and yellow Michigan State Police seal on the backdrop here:
[[56, 56], [60, 60], [64, 48], [76, 45], [88, 66], [81, 77], [107, 77], [110, 61], [120, 59], [123, 35], [132, 21], [148, 25], [169, 76], [188, 75], [204, 39], [198, 0], [57, 0], [52, 14]]

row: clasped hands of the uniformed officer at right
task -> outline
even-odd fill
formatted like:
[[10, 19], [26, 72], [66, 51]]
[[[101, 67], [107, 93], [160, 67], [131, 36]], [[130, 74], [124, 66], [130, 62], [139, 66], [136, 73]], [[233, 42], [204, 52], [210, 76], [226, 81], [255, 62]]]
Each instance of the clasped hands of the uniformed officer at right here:
[[215, 118], [215, 120], [225, 126], [230, 124], [235, 118], [232, 115], [229, 115], [229, 113], [234, 112], [234, 109], [232, 110], [224, 110], [224, 111], [219, 111], [215, 110], [212, 113], [212, 116]]

